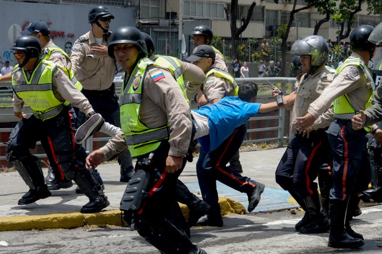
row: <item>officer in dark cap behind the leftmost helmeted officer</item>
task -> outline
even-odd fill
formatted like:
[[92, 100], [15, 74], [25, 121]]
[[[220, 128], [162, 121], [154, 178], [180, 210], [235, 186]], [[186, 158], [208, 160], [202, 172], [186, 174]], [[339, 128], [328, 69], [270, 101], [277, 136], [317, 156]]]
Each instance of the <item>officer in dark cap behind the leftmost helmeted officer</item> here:
[[[72, 83], [75, 84], [77, 89], [82, 90], [82, 85], [77, 81], [74, 73], [72, 71], [72, 63], [69, 56], [65, 53], [64, 50], [57, 47], [53, 41], [49, 38], [50, 30], [48, 25], [44, 21], [33, 21], [28, 27], [20, 32], [21, 35], [30, 35], [36, 37], [42, 45], [42, 59], [52, 61], [55, 64], [65, 67], [68, 70], [69, 78]], [[77, 117], [75, 118], [77, 120]], [[64, 172], [57, 164], [54, 157], [56, 156], [52, 150], [46, 150], [45, 153], [49, 159], [49, 169], [48, 174], [45, 177], [45, 182], [49, 190], [58, 190], [61, 188], [69, 188], [73, 186], [72, 181], [68, 180], [65, 177]], [[81, 148], [78, 153], [81, 153], [83, 156], [83, 161], [85, 163], [85, 158], [87, 156], [85, 150]], [[99, 176], [99, 173], [95, 169], [95, 177], [102, 184], [102, 179]]]

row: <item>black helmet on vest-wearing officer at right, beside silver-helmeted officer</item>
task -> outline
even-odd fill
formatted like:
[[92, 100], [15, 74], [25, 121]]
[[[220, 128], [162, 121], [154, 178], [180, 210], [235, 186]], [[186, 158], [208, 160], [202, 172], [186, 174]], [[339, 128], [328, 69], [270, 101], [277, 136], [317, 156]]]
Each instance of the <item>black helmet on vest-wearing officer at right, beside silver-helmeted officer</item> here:
[[360, 51], [369, 51], [373, 49], [376, 44], [368, 41], [368, 38], [374, 27], [371, 25], [360, 25], [350, 34], [350, 48]]

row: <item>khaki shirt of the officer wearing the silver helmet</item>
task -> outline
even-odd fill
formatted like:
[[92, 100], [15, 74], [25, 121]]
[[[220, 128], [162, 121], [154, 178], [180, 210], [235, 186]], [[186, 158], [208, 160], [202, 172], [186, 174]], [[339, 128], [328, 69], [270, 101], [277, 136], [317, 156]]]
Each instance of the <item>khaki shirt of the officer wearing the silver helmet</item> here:
[[[315, 73], [302, 76], [296, 88], [296, 100], [293, 105], [291, 116], [291, 126], [293, 133], [296, 132], [294, 128], [294, 121], [296, 117], [304, 116], [308, 112], [309, 105], [317, 99], [324, 89], [333, 81], [333, 75], [326, 70], [324, 66], [316, 70]], [[313, 130], [325, 128], [333, 121], [333, 105], [330, 105], [317, 116], [317, 120], [313, 123]]]

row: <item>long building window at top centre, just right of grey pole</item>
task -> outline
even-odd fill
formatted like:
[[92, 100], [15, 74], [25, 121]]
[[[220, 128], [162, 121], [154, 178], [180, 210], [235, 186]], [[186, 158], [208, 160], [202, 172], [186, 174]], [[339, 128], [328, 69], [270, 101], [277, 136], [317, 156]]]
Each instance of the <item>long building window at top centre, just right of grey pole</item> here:
[[199, 18], [225, 18], [225, 3], [184, 1], [183, 15]]

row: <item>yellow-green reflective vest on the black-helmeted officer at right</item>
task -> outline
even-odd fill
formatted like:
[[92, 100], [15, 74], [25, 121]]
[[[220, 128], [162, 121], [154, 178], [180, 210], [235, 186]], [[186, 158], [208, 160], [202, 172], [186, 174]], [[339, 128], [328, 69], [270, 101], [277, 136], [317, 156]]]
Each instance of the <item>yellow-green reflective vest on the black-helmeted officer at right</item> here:
[[[372, 94], [369, 98], [369, 100], [365, 103], [365, 109], [370, 107], [372, 105], [371, 99], [374, 96], [374, 89], [375, 84], [373, 81], [373, 75], [371, 74], [370, 70], [365, 66], [365, 63], [360, 59], [356, 57], [349, 57], [345, 60], [345, 62], [340, 65], [340, 67], [337, 68], [336, 74], [334, 78], [337, 77], [337, 75], [347, 66], [357, 66], [360, 67], [363, 74], [366, 77], [367, 86], [369, 90], [372, 90]], [[352, 103], [350, 102], [348, 94], [341, 95], [340, 97], [336, 98], [334, 100], [334, 117], [339, 119], [352, 119], [354, 115], [359, 114], [357, 112]], [[370, 126], [364, 127], [367, 131], [370, 131]]]

